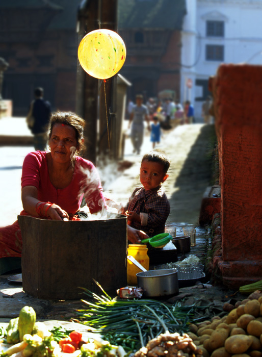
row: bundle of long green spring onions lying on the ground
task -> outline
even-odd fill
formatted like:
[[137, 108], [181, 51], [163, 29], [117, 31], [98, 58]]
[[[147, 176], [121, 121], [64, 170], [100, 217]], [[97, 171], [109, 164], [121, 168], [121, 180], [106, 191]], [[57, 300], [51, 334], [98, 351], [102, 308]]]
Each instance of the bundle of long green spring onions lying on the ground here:
[[126, 351], [138, 350], [150, 339], [165, 333], [188, 330], [194, 307], [168, 305], [158, 300], [115, 300], [82, 288], [94, 302], [82, 300], [86, 309], [77, 310], [81, 323], [95, 328], [103, 338]]

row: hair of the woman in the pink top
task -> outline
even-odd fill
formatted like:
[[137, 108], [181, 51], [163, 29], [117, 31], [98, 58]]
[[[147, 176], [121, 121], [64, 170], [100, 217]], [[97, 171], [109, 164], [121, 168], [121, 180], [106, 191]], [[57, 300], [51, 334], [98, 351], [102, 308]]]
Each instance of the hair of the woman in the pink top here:
[[48, 130], [49, 130], [49, 139], [51, 138], [51, 134], [53, 131], [53, 127], [55, 124], [66, 124], [73, 127], [75, 131], [75, 138], [78, 143], [78, 150], [82, 150], [84, 148], [84, 144], [82, 142], [82, 138], [84, 135], [84, 127], [85, 120], [80, 116], [73, 112], [54, 112], [51, 114]]

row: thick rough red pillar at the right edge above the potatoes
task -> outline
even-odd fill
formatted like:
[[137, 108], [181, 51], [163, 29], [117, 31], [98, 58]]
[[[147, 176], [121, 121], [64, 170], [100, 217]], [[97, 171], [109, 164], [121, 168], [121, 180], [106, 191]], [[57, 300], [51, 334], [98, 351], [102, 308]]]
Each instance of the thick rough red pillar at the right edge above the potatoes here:
[[262, 66], [226, 65], [214, 96], [221, 185], [223, 283], [262, 279]]

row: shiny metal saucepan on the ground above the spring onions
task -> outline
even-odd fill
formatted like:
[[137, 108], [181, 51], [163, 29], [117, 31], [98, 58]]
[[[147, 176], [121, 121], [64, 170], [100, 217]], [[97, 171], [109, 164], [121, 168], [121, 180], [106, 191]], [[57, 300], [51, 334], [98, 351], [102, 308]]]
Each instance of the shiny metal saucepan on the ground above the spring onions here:
[[137, 273], [138, 286], [144, 296], [166, 296], [178, 294], [176, 269], [148, 270]]

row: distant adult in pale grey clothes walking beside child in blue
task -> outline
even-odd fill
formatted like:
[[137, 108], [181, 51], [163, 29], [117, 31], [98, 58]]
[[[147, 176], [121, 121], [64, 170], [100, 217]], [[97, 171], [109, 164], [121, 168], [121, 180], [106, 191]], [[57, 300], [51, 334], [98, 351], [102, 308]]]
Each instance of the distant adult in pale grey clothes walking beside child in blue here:
[[141, 146], [144, 137], [144, 120], [147, 121], [148, 130], [150, 130], [148, 109], [143, 104], [143, 95], [136, 95], [136, 104], [134, 105], [130, 114], [128, 128], [131, 126], [131, 141], [133, 144], [133, 152], [140, 154]]

